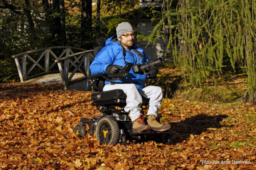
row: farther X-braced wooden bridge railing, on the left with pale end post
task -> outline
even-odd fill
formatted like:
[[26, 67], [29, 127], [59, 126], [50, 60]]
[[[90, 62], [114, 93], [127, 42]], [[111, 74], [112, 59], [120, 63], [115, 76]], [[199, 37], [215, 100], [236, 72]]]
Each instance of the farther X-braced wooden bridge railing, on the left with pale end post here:
[[[52, 51], [53, 49], [56, 50], [57, 52], [53, 52]], [[54, 67], [55, 64], [57, 63], [55, 62], [55, 60], [58, 60], [63, 56], [74, 54], [72, 50], [85, 51], [85, 49], [76, 48], [76, 47], [66, 47], [66, 46], [47, 47], [47, 48], [36, 49], [36, 50], [19, 53], [19, 54], [13, 55], [12, 57], [15, 59], [19, 78], [21, 82], [23, 82], [30, 78], [38, 77], [40, 75], [59, 72], [59, 70], [56, 69], [56, 67]], [[40, 55], [38, 56], [38, 54]], [[44, 57], [44, 61], [41, 61], [43, 57]], [[29, 67], [29, 69], [27, 69], [27, 67]], [[35, 68], [39, 68], [39, 70], [35, 70]]]

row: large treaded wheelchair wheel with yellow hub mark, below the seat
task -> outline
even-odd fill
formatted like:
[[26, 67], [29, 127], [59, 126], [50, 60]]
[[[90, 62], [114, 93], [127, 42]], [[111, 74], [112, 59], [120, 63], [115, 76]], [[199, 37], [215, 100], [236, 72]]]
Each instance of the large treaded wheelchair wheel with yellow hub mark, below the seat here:
[[96, 126], [96, 138], [99, 143], [117, 145], [119, 140], [119, 128], [116, 121], [108, 116], [101, 118]]

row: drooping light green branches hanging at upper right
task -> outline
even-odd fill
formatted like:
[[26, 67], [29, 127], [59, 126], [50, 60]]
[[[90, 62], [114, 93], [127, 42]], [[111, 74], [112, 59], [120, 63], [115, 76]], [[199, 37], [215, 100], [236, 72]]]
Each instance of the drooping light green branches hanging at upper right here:
[[[255, 0], [176, 2], [164, 1], [162, 20], [149, 40], [165, 25], [179, 29], [170, 33], [169, 46], [187, 85], [201, 86], [204, 80], [223, 78], [230, 71], [246, 72], [252, 95], [256, 89]], [[180, 51], [175, 38], [180, 39]]]

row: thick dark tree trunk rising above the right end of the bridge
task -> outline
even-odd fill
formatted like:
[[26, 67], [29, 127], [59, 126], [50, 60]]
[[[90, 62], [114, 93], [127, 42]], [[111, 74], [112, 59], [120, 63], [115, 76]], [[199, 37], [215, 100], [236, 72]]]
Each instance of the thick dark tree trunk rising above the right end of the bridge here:
[[81, 8], [81, 46], [91, 49], [89, 44], [92, 32], [92, 0], [82, 0]]

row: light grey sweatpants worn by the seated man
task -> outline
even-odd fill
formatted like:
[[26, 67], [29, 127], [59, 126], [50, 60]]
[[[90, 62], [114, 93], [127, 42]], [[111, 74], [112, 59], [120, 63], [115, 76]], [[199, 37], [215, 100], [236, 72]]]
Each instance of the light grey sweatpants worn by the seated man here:
[[163, 94], [162, 88], [158, 86], [147, 86], [142, 90], [138, 90], [135, 84], [107, 84], [104, 86], [103, 91], [114, 90], [114, 89], [122, 89], [126, 94], [126, 106], [124, 107], [124, 111], [130, 113], [130, 117], [132, 121], [137, 119], [141, 114], [141, 104], [142, 97], [149, 98], [149, 107], [147, 115], [155, 115], [157, 116], [158, 110], [160, 108]]

